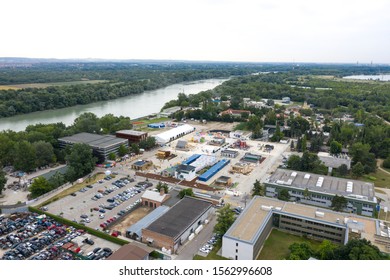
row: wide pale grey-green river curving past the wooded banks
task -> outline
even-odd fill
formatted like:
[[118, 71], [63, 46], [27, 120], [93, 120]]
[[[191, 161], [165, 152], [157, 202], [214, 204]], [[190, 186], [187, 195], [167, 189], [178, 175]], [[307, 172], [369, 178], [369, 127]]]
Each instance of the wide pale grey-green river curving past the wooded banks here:
[[95, 102], [87, 105], [77, 105], [68, 108], [34, 112], [0, 119], [0, 131], [11, 129], [22, 131], [28, 125], [38, 123], [63, 122], [71, 125], [82, 113], [92, 112], [98, 117], [112, 113], [116, 116], [126, 116], [131, 119], [140, 118], [149, 114], [160, 112], [166, 102], [176, 99], [178, 94], [196, 94], [198, 92], [213, 89], [228, 79], [208, 79], [188, 83], [179, 83], [165, 88], [145, 91], [126, 97]]

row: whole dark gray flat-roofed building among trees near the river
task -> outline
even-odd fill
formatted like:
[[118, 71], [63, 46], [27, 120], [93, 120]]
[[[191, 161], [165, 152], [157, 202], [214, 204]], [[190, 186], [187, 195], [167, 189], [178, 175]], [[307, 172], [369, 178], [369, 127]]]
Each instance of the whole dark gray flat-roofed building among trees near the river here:
[[112, 135], [99, 135], [86, 132], [59, 138], [58, 142], [61, 148], [76, 143], [87, 144], [92, 148], [93, 154], [98, 158], [99, 162], [107, 160], [108, 155], [111, 153], [117, 154], [121, 145], [125, 147], [129, 146], [126, 139], [116, 138]]

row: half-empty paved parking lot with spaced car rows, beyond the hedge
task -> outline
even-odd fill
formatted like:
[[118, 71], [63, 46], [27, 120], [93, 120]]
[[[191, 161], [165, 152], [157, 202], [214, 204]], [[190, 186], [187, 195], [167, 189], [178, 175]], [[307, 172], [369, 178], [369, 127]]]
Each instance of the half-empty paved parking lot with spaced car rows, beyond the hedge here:
[[119, 217], [135, 209], [141, 202], [144, 190], [151, 186], [151, 183], [136, 182], [134, 179], [127, 180], [124, 177], [123, 180], [111, 176], [106, 179], [49, 204], [46, 206], [47, 210], [44, 210], [103, 230]]

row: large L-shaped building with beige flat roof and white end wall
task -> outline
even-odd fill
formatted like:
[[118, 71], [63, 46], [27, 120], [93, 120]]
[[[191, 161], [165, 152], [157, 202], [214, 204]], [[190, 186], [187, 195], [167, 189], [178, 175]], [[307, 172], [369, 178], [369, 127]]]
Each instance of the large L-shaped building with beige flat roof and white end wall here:
[[223, 236], [222, 256], [256, 259], [273, 228], [339, 244], [346, 244], [354, 235], [370, 240], [382, 251], [390, 244], [379, 220], [255, 196]]

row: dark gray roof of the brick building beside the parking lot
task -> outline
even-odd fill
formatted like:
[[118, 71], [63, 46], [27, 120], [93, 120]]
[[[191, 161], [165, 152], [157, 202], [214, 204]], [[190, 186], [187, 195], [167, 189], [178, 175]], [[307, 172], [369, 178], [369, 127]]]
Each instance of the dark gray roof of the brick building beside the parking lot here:
[[150, 224], [147, 229], [177, 239], [211, 206], [211, 202], [193, 197], [184, 197], [167, 213]]

